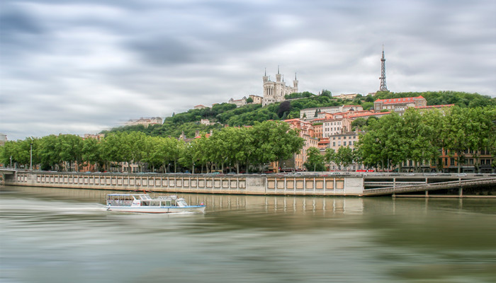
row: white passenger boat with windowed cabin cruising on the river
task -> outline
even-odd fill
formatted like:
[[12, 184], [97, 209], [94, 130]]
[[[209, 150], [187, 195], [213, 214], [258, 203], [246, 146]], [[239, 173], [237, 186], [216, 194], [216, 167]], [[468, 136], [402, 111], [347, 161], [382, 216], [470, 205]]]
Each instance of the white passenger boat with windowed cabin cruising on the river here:
[[113, 212], [205, 212], [205, 204], [188, 205], [186, 200], [175, 195], [152, 198], [148, 194], [107, 195], [107, 210]]

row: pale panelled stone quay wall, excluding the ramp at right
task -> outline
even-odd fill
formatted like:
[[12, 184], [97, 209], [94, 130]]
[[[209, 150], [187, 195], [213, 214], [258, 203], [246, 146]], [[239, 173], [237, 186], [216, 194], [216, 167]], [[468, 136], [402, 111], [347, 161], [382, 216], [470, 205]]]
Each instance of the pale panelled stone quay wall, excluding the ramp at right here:
[[18, 171], [6, 185], [238, 195], [361, 195], [363, 178], [342, 175], [112, 174]]

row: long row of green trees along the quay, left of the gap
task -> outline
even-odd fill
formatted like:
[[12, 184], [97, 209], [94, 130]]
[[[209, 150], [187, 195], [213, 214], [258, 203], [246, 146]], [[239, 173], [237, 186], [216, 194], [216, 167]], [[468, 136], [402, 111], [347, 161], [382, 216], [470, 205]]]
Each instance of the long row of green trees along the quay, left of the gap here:
[[194, 172], [196, 167], [235, 167], [239, 172], [271, 161], [290, 158], [303, 147], [298, 132], [283, 122], [266, 121], [253, 127], [225, 127], [211, 137], [203, 135], [191, 142], [171, 137], [152, 137], [142, 132], [115, 132], [104, 139], [82, 139], [64, 134], [40, 139], [7, 141], [0, 148], [2, 163], [30, 163], [30, 146], [33, 145], [33, 164], [43, 170], [78, 170], [76, 166], [96, 164], [108, 168], [110, 163], [147, 163], [152, 170], [177, 171], [178, 165]]

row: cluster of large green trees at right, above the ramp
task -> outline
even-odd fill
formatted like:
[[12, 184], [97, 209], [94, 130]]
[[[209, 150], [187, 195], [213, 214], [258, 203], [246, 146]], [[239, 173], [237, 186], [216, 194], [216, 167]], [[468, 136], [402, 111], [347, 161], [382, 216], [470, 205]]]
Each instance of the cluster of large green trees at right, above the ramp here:
[[[465, 151], [496, 152], [496, 108], [452, 107], [445, 111], [408, 109], [404, 115], [395, 113], [371, 120], [366, 133], [359, 139], [358, 151], [366, 166], [398, 167], [414, 161], [439, 162], [441, 150], [458, 158], [458, 172]], [[478, 164], [478, 161], [475, 162]], [[477, 165], [476, 165], [477, 166]]]

